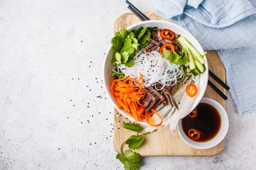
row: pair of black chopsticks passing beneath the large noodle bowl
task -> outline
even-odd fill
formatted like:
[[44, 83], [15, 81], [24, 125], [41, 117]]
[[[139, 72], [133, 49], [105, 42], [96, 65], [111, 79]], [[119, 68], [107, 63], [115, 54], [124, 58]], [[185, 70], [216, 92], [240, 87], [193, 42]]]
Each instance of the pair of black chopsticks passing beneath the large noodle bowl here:
[[[144, 15], [144, 13], [142, 13], [141, 11], [139, 11], [139, 9], [137, 9], [133, 4], [131, 4], [128, 0], [126, 0], [126, 3], [129, 5], [128, 9], [130, 9], [132, 11], [132, 13], [134, 13], [141, 21], [146, 21], [146, 20], [150, 20], [146, 15]], [[222, 80], [217, 77], [213, 72], [211, 72], [209, 70], [209, 75], [211, 77], [213, 77], [213, 79], [216, 80], [216, 82], [218, 82], [222, 87], [224, 87], [225, 89], [229, 90], [229, 86], [227, 86], [227, 84], [225, 84], [224, 82], [222, 82]], [[227, 100], [227, 96], [222, 93], [220, 91], [220, 89], [218, 89], [218, 87], [216, 87], [209, 79], [208, 79], [208, 84], [209, 86], [211, 86], [211, 88], [213, 88], [214, 91], [216, 91], [224, 100]]]

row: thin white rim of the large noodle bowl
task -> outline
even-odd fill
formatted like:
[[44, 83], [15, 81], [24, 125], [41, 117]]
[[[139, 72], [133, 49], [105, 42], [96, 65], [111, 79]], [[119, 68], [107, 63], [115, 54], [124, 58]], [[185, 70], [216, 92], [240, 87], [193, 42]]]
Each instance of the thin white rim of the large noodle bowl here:
[[[138, 23], [136, 23], [136, 24], [133, 24], [133, 25], [127, 27], [126, 29], [127, 29], [128, 31], [131, 31], [134, 27], [143, 26], [143, 24], [147, 24], [147, 23], [163, 23], [163, 24], [168, 24], [168, 25], [177, 26], [179, 29], [181, 29], [182, 31], [184, 31], [184, 32], [186, 32], [187, 34], [189, 34], [189, 35], [193, 38], [193, 40], [195, 41], [195, 43], [198, 43], [198, 44], [200, 45], [200, 49], [198, 49], [198, 50], [204, 51], [203, 48], [202, 48], [202, 46], [201, 46], [201, 44], [198, 42], [198, 40], [197, 40], [189, 31], [187, 31], [187, 30], [184, 29], [182, 26], [180, 26], [180, 25], [178, 25], [178, 24], [175, 24], [175, 23], [173, 23], [173, 22], [164, 21], [164, 20], [147, 20], [147, 21], [142, 21], [142, 22], [138, 22]], [[128, 114], [123, 114], [123, 111], [122, 111], [121, 109], [117, 108], [115, 102], [111, 99], [111, 96], [110, 96], [111, 94], [108, 93], [108, 89], [107, 89], [107, 87], [106, 87], [106, 80], [105, 80], [105, 76], [104, 76], [104, 70], [105, 70], [105, 66], [106, 66], [106, 62], [107, 62], [106, 59], [107, 59], [108, 53], [110, 53], [110, 51], [111, 51], [111, 47], [112, 47], [112, 44], [110, 44], [110, 46], [108, 47], [108, 50], [107, 50], [107, 52], [106, 52], [106, 54], [105, 54], [105, 56], [104, 56], [104, 60], [103, 60], [103, 70], [102, 70], [103, 86], [104, 86], [104, 88], [105, 88], [105, 91], [106, 91], [106, 94], [107, 94], [107, 96], [108, 96], [108, 99], [110, 100], [110, 102], [112, 103], [112, 105], [119, 111], [119, 113], [121, 113], [124, 117], [130, 119], [131, 121], [135, 121], [135, 119], [134, 119], [133, 117], [129, 117]], [[204, 56], [204, 60], [205, 60], [204, 66], [205, 66], [205, 68], [206, 68], [205, 71], [204, 71], [204, 74], [207, 74], [206, 76], [207, 76], [207, 80], [208, 80], [209, 71], [208, 71], [208, 62], [207, 62], [206, 55]], [[204, 94], [205, 91], [206, 91], [206, 88], [207, 88], [207, 81], [205, 81], [205, 83], [203, 84], [203, 87], [204, 87], [204, 89], [202, 90], [202, 92], [203, 92], [203, 94]], [[203, 97], [203, 95], [199, 98], [199, 100], [201, 100], [202, 97]], [[199, 103], [200, 103], [200, 102], [198, 102], [198, 104], [199, 104]], [[194, 105], [194, 104], [193, 104], [193, 105]], [[196, 105], [196, 106], [197, 106], [197, 105]], [[192, 107], [191, 110], [194, 110], [196, 106]], [[189, 113], [190, 113], [190, 112], [189, 112]], [[187, 113], [187, 114], [189, 114], [189, 113]], [[182, 118], [183, 118], [183, 117], [182, 117]], [[181, 118], [181, 119], [182, 119], [182, 118]], [[139, 122], [137, 122], [137, 123], [142, 124], [142, 125], [147, 125], [147, 126], [148, 126], [148, 124], [147, 124], [146, 122], [143, 122], [143, 121], [139, 121]], [[165, 122], [163, 122], [163, 123], [161, 124], [161, 126], [165, 126], [165, 125], [166, 125]]]

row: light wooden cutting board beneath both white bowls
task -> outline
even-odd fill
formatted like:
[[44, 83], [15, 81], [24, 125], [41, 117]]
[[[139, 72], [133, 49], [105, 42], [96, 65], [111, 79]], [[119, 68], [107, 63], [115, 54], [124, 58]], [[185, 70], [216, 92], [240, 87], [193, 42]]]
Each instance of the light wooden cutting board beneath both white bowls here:
[[[164, 20], [156, 13], [146, 13], [151, 20]], [[128, 26], [141, 22], [133, 13], [125, 13], [121, 15], [114, 24], [114, 33], [127, 28]], [[225, 68], [216, 51], [207, 51], [207, 61], [209, 69], [213, 71], [223, 82], [225, 82]], [[211, 82], [225, 94], [225, 89], [209, 77]], [[222, 99], [210, 86], [207, 86], [204, 97], [211, 98], [219, 102], [225, 108], [225, 100]], [[128, 139], [131, 135], [138, 135], [137, 132], [132, 132], [123, 128], [124, 123], [129, 123], [130, 120], [125, 118], [116, 109], [114, 111], [114, 149], [120, 153], [121, 144]], [[142, 126], [143, 129], [146, 126]], [[124, 145], [124, 150], [128, 149]], [[169, 127], [159, 127], [156, 132], [144, 136], [144, 143], [139, 147], [136, 152], [141, 156], [212, 156], [220, 153], [224, 149], [224, 139], [217, 146], [210, 149], [195, 149], [182, 141], [177, 128], [173, 131]]]

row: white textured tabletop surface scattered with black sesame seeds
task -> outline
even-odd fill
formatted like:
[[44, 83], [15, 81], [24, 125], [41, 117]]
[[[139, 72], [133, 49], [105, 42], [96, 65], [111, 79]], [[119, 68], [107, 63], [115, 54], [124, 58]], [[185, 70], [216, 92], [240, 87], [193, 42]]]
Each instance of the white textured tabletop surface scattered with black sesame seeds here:
[[[128, 12], [124, 0], [0, 2], [0, 170], [123, 169], [101, 67], [115, 19]], [[255, 169], [256, 114], [238, 117], [228, 97], [222, 153], [144, 157], [141, 170]]]

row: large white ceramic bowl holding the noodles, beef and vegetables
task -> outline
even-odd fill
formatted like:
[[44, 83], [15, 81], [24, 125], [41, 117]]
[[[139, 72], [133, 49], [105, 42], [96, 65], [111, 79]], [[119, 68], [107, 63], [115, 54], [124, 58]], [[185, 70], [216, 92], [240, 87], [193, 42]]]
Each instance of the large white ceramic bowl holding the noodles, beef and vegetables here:
[[[184, 28], [182, 28], [181, 26], [177, 25], [177, 24], [173, 24], [172, 22], [168, 22], [168, 21], [162, 21], [162, 20], [148, 20], [148, 21], [143, 21], [143, 22], [139, 22], [137, 24], [134, 24], [132, 26], [129, 26], [127, 28], [128, 32], [132, 31], [133, 29], [138, 29], [140, 26], [157, 26], [159, 29], [171, 29], [173, 32], [180, 34], [182, 36], [185, 36], [187, 40], [189, 40], [189, 42], [191, 42], [191, 44], [195, 47], [195, 49], [197, 49], [199, 51], [199, 53], [204, 53], [204, 50], [202, 49], [202, 46], [199, 44], [199, 42], [195, 39], [195, 37], [189, 33], [188, 31], [186, 31]], [[127, 117], [128, 119], [135, 121], [133, 117], [131, 117], [124, 109], [119, 109], [117, 108], [117, 102], [115, 97], [113, 97], [111, 95], [110, 92], [110, 80], [112, 79], [112, 75], [111, 75], [111, 70], [114, 67], [113, 64], [111, 63], [111, 59], [112, 56], [115, 54], [112, 50], [111, 50], [111, 46], [109, 46], [108, 51], [106, 52], [104, 61], [103, 61], [103, 84], [107, 93], [108, 98], [110, 99], [110, 102], [113, 104], [113, 106], [115, 106], [115, 108], [125, 117]], [[206, 56], [204, 56], [204, 60], [206, 61], [204, 63], [205, 66], [205, 71], [203, 74], [200, 74], [200, 85], [198, 88], [198, 95], [196, 96], [195, 99], [195, 103], [193, 104], [191, 111], [194, 110], [194, 108], [199, 104], [200, 100], [202, 99], [204, 92], [206, 90], [207, 87], [207, 81], [208, 81], [208, 64], [207, 64], [207, 59]], [[190, 112], [191, 112], [190, 111]], [[189, 114], [190, 112], [186, 113]], [[140, 124], [144, 124], [144, 125], [148, 125], [146, 123], [145, 120], [139, 122]], [[165, 122], [162, 123], [162, 125], [165, 125]]]

